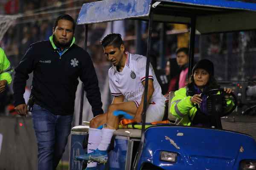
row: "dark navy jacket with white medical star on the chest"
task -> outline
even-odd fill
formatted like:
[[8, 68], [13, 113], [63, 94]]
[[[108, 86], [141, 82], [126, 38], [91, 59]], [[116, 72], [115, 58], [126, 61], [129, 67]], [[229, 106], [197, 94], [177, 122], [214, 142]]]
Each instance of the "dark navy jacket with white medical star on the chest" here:
[[74, 112], [78, 78], [84, 82], [93, 115], [103, 113], [98, 79], [89, 54], [76, 44], [60, 57], [51, 42], [42, 41], [30, 45], [28, 51], [15, 68], [15, 106], [24, 104], [28, 74], [33, 71], [32, 93], [35, 103], [58, 115]]

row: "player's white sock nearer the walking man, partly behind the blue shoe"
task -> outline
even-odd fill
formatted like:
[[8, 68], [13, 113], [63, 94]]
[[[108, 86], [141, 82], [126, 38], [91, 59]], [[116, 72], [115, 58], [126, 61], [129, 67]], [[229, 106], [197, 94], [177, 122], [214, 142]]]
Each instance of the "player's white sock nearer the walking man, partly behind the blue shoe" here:
[[[96, 128], [89, 128], [89, 138], [87, 144], [87, 153], [93, 152], [99, 146], [99, 143], [102, 139], [102, 130]], [[97, 162], [88, 161], [87, 167], [96, 167]]]

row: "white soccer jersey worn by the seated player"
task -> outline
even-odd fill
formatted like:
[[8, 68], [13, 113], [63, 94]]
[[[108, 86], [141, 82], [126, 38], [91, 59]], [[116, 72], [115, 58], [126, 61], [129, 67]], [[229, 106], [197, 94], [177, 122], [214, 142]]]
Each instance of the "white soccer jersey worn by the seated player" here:
[[[115, 66], [108, 70], [109, 86], [113, 96], [124, 95], [125, 99], [134, 101], [139, 107], [144, 92], [142, 82], [145, 80], [146, 59], [145, 56], [126, 52], [126, 63], [122, 72], [118, 72]], [[151, 103], [164, 105], [165, 97], [151, 65], [148, 78], [153, 79], [154, 84]]]

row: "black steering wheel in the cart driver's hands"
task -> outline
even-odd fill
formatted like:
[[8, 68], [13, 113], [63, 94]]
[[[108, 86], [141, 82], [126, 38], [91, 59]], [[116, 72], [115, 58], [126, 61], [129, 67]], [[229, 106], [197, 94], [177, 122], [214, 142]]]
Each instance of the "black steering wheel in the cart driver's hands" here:
[[[222, 113], [220, 114], [220, 117], [227, 116], [227, 115], [229, 115], [230, 113], [232, 113], [232, 112], [235, 110], [236, 106], [237, 106], [237, 99], [236, 99], [235, 94], [233, 94], [232, 92], [231, 92], [230, 94], [227, 94], [227, 93], [224, 91], [223, 88], [212, 89], [212, 90], [203, 92], [202, 94], [206, 95], [206, 96], [207, 96], [207, 100], [208, 100], [211, 95], [217, 94], [218, 92], [220, 92], [220, 95], [222, 96], [222, 97], [221, 97], [222, 99], [223, 99], [223, 98], [228, 99], [230, 96], [232, 96], [232, 98], [233, 98], [233, 103], [234, 103], [233, 107], [232, 107], [229, 111], [222, 112]], [[207, 101], [207, 103], [208, 103], [208, 101]], [[225, 107], [225, 105], [226, 105], [226, 102], [225, 102], [225, 100], [223, 100], [223, 101], [222, 101], [222, 106]], [[208, 107], [208, 104], [207, 104], [207, 107]], [[199, 105], [196, 105], [196, 108], [197, 108], [198, 111], [201, 111]], [[209, 108], [207, 108], [207, 111], [208, 111], [208, 109], [209, 109]], [[202, 112], [202, 111], [201, 111], [201, 112]], [[212, 113], [210, 112], [210, 113], [208, 113], [208, 114], [211, 115]]]

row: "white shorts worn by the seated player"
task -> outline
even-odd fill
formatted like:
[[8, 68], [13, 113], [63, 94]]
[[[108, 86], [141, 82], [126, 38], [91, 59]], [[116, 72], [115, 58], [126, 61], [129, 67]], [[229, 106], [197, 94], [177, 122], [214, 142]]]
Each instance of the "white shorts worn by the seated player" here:
[[146, 114], [146, 123], [162, 121], [165, 105], [150, 104]]

